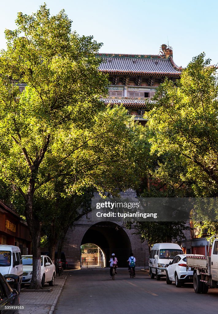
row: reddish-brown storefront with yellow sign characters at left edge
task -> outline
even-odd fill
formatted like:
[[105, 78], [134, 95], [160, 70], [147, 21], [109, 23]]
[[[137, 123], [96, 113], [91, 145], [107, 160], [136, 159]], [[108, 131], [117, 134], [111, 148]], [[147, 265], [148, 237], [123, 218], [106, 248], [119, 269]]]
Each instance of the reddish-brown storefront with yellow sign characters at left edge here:
[[2, 201], [0, 201], [0, 244], [19, 246], [22, 255], [31, 254], [31, 237], [25, 221]]

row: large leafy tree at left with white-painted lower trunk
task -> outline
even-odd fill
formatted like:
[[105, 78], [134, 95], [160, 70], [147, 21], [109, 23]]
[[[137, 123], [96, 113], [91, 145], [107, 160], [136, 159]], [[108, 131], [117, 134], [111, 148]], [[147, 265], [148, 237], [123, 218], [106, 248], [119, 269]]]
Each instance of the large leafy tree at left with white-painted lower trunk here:
[[[144, 135], [122, 106], [105, 108], [99, 100], [108, 83], [97, 69], [101, 44], [71, 33], [63, 10], [50, 16], [43, 5], [36, 14], [19, 13], [16, 24], [6, 30], [0, 56], [0, 179], [26, 217], [30, 288], [38, 289], [41, 228], [58, 199], [56, 180], [65, 178], [64, 197], [84, 187], [104, 192], [133, 185], [139, 172], [133, 153], [143, 154]], [[17, 82], [26, 84], [22, 93]]]

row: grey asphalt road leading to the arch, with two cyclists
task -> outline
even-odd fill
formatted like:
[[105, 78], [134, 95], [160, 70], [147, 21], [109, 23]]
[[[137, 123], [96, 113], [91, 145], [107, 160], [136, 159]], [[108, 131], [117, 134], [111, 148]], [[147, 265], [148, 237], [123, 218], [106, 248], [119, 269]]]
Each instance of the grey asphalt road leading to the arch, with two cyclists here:
[[217, 313], [218, 289], [197, 295], [193, 284], [177, 288], [136, 271], [118, 268], [113, 281], [109, 269], [81, 269], [69, 273], [55, 314], [199, 314]]

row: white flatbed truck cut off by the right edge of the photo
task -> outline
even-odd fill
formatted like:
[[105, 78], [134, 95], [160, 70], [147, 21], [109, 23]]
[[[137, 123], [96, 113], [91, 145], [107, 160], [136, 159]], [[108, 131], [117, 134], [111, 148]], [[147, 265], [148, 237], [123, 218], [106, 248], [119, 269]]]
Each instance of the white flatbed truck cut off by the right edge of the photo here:
[[[211, 256], [210, 244], [214, 239]], [[209, 240], [207, 256], [187, 255], [187, 268], [193, 270], [193, 286], [195, 293], [207, 293], [209, 287], [218, 288], [218, 236]]]

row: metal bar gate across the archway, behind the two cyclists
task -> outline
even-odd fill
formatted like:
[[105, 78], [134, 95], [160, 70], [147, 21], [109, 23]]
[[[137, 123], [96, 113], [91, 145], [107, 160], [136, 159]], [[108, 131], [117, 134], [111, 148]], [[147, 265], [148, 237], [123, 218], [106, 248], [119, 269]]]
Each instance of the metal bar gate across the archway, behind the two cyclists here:
[[109, 267], [111, 254], [115, 253], [118, 267], [127, 267], [127, 259], [131, 251], [129, 249], [101, 250], [100, 248], [81, 249], [81, 268], [104, 268]]

